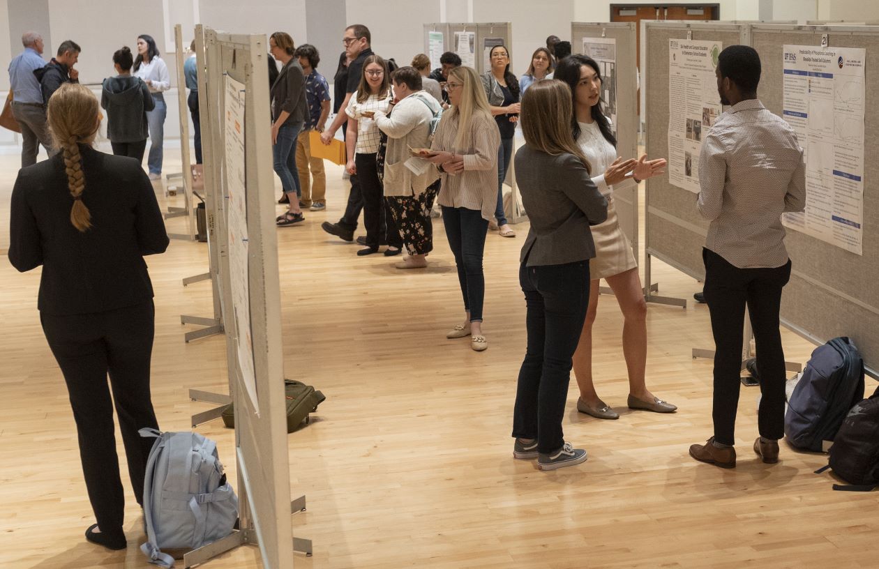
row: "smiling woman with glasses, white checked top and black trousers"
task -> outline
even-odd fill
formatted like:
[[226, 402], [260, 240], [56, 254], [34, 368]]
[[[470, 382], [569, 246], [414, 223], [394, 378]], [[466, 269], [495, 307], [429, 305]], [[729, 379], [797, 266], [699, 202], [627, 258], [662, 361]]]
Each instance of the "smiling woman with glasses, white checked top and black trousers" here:
[[[399, 255], [403, 241], [396, 224], [384, 206], [379, 170], [375, 155], [379, 151], [379, 127], [375, 125], [375, 112], [388, 112], [394, 99], [390, 88], [388, 64], [379, 55], [370, 55], [363, 62], [360, 85], [351, 95], [345, 107], [348, 115], [345, 144], [348, 148], [349, 174], [356, 174], [363, 192], [363, 225], [367, 229], [367, 246], [357, 252], [359, 256], [377, 253], [382, 237], [387, 237], [385, 256]], [[384, 234], [382, 234], [384, 233]]]

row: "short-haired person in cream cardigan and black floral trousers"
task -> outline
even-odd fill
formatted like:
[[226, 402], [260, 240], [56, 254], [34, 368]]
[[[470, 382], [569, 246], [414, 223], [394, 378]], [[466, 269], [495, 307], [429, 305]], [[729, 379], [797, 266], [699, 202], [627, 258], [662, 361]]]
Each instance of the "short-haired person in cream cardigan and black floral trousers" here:
[[[427, 266], [425, 257], [433, 249], [431, 209], [439, 192], [439, 172], [429, 162], [413, 158], [410, 148], [430, 146], [431, 122], [442, 109], [435, 98], [422, 90], [418, 69], [399, 68], [392, 80], [393, 112], [375, 112], [375, 125], [388, 136], [384, 162], [385, 203], [409, 253], [396, 267], [420, 269]], [[420, 168], [421, 173], [413, 172], [410, 166]]]

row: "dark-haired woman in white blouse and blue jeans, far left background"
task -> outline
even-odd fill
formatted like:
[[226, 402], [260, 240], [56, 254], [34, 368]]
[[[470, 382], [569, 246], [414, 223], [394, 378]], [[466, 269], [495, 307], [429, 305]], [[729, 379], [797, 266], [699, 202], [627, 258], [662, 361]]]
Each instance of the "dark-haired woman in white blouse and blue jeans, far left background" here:
[[162, 144], [164, 139], [164, 119], [168, 115], [168, 105], [164, 102], [164, 91], [171, 87], [168, 77], [168, 66], [159, 57], [156, 40], [147, 34], [137, 36], [137, 58], [134, 60], [134, 76], [147, 83], [149, 93], [156, 103], [152, 111], [147, 112], [149, 126], [149, 179], [162, 179]]

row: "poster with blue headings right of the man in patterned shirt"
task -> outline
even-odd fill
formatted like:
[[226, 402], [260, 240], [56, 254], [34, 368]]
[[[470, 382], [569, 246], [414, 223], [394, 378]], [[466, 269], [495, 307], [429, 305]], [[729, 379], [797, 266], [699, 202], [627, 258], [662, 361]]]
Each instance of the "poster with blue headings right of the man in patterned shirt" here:
[[783, 117], [806, 161], [806, 211], [786, 227], [863, 255], [864, 61], [860, 47], [784, 46]]

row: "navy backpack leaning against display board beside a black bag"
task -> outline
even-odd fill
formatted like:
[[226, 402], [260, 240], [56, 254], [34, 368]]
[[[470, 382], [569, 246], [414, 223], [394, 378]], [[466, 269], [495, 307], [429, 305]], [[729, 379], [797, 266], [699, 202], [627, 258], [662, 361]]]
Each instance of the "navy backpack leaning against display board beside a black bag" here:
[[797, 449], [826, 451], [863, 396], [864, 362], [854, 342], [839, 337], [817, 347], [788, 400], [788, 442]]

